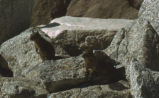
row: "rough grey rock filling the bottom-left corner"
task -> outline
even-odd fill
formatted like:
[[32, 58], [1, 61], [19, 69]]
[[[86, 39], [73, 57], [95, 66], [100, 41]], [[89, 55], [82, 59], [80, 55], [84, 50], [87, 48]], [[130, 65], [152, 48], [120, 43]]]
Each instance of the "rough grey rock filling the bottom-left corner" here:
[[33, 80], [22, 78], [1, 78], [1, 98], [47, 98], [47, 91]]

